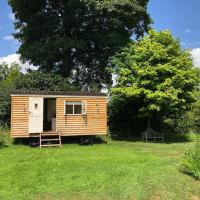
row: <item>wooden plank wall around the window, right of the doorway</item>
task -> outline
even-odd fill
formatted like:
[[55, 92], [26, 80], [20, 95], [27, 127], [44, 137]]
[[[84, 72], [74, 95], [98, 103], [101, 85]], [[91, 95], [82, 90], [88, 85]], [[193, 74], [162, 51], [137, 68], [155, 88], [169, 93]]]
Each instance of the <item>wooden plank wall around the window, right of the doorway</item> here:
[[[65, 101], [86, 103], [86, 115], [65, 115]], [[106, 135], [106, 98], [57, 98], [57, 131], [67, 135]]]

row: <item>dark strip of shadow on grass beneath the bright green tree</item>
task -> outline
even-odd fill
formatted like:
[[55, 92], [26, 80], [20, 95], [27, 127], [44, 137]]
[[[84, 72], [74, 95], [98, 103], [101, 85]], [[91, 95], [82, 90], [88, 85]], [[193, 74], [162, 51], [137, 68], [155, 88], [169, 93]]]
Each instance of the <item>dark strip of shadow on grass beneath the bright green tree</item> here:
[[[122, 135], [111, 135], [111, 138], [116, 141], [126, 141], [126, 142], [142, 142], [141, 136], [122, 136]], [[192, 139], [189, 134], [165, 134], [164, 142], [162, 139], [157, 138], [154, 142], [154, 139], [148, 139], [147, 143], [164, 143], [164, 144], [172, 144], [172, 143], [184, 143], [191, 142]], [[146, 141], [143, 141], [146, 143]]]

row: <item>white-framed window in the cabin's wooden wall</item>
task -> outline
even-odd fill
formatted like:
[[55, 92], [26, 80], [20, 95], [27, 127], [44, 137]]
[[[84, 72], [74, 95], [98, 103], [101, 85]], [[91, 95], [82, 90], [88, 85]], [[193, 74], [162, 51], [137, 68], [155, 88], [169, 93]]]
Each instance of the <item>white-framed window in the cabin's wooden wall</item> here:
[[85, 114], [85, 102], [81, 101], [66, 101], [65, 115], [82, 115]]

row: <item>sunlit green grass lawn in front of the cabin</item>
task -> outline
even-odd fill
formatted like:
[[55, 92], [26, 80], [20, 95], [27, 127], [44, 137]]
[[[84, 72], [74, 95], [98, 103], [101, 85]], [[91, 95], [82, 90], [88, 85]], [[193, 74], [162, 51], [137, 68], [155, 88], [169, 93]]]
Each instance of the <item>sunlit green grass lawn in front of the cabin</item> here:
[[195, 142], [0, 149], [0, 199], [199, 200], [200, 182], [180, 171]]

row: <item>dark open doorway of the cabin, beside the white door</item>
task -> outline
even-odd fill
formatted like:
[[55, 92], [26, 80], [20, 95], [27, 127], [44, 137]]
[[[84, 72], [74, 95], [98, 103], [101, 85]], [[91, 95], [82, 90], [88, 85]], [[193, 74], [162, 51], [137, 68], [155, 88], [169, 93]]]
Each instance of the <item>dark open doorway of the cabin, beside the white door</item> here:
[[56, 131], [56, 99], [44, 98], [43, 131]]

